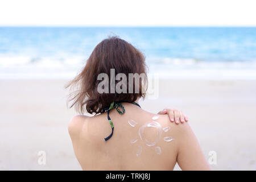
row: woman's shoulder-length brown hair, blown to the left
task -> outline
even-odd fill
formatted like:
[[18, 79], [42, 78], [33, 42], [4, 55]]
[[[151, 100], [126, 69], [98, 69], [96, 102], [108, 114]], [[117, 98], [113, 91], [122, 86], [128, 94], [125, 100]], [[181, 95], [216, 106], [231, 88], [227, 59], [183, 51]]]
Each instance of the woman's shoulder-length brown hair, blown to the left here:
[[[117, 36], [102, 40], [93, 49], [79, 75], [65, 86], [72, 90], [68, 99], [68, 102], [71, 102], [69, 108], [75, 106], [79, 113], [84, 113], [86, 105], [88, 113], [98, 114], [113, 101], [134, 102], [145, 97], [145, 93], [142, 92], [145, 83], [143, 80], [139, 81], [139, 93], [98, 93], [97, 86], [100, 81], [97, 80], [97, 76], [106, 73], [110, 77], [110, 69], [115, 69], [115, 74], [124, 73], [127, 77], [129, 73], [146, 74], [145, 57], [137, 48]], [[147, 84], [147, 77], [144, 81]]]

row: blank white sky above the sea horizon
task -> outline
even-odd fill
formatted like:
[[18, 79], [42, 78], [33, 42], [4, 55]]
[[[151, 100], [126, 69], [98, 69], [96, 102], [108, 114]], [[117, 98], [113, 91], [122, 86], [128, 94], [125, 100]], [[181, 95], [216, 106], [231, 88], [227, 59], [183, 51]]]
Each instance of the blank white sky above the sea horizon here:
[[1, 0], [0, 26], [256, 26], [255, 0]]

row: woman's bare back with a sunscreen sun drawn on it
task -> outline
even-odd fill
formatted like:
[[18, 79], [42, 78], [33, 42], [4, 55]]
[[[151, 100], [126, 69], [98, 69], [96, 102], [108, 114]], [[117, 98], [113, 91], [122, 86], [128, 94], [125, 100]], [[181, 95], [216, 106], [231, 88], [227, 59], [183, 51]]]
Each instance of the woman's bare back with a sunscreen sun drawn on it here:
[[[70, 123], [69, 133], [82, 169], [174, 169], [178, 154], [183, 151], [183, 135], [188, 124], [176, 125], [169, 121], [168, 115], [148, 113], [129, 103], [123, 106], [126, 110], [124, 114], [115, 109], [110, 111], [114, 133], [107, 141], [104, 138], [112, 129], [106, 113], [95, 117], [77, 116]], [[185, 155], [180, 157], [186, 158]]]

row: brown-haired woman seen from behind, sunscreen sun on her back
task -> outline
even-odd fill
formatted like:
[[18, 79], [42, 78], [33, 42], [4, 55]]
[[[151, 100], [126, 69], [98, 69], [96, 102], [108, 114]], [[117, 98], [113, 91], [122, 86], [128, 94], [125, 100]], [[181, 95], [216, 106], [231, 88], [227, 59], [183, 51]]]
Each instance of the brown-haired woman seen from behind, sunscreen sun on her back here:
[[[111, 80], [112, 71], [122, 76]], [[82, 169], [172, 170], [176, 162], [183, 170], [210, 169], [182, 113], [166, 109], [153, 114], [141, 108], [147, 77], [139, 82], [135, 77], [124, 80], [135, 73], [146, 75], [142, 53], [125, 40], [111, 37], [94, 48], [85, 68], [67, 85], [75, 89], [71, 107], [96, 114], [77, 115], [68, 126]], [[113, 92], [113, 85], [119, 90]], [[175, 125], [170, 119], [184, 123]]]

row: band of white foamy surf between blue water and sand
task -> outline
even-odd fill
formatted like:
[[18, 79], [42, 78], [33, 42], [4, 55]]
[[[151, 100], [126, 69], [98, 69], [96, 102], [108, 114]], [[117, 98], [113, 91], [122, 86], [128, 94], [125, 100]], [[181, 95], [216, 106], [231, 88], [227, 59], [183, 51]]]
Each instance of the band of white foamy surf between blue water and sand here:
[[[28, 57], [1, 56], [0, 78], [73, 78], [86, 63], [82, 56]], [[149, 73], [160, 78], [181, 79], [253, 79], [256, 80], [255, 61], [200, 61], [196, 59], [147, 59]]]

